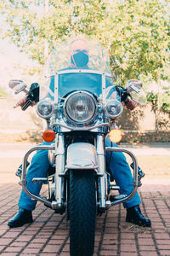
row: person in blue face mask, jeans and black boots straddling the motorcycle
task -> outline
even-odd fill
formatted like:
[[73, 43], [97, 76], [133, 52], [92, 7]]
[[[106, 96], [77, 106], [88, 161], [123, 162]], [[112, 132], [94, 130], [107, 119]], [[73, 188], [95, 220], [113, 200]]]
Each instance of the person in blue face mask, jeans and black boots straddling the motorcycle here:
[[[68, 67], [67, 69], [88, 68], [88, 44], [86, 43], [86, 41], [82, 39], [77, 39], [72, 42], [70, 47], [70, 60], [71, 64], [70, 67]], [[115, 97], [116, 90], [114, 91], [110, 88], [112, 87], [109, 87], [108, 93], [111, 94], [111, 97]], [[49, 86], [48, 96], [54, 96], [54, 84], [52, 82]], [[25, 102], [26, 98], [23, 98], [20, 102], [18, 102], [17, 106], [22, 107]], [[135, 107], [136, 102], [133, 102], [132, 100], [129, 100], [126, 104], [127, 109], [133, 110], [133, 108]], [[42, 144], [47, 145], [50, 143], [43, 142]], [[108, 137], [106, 138], [105, 144], [106, 147], [111, 147], [111, 142]], [[113, 146], [116, 147], [116, 144], [114, 143]], [[111, 152], [106, 152], [106, 161], [107, 163], [110, 162], [111, 174], [116, 181], [116, 185], [120, 187], [120, 194], [129, 194], [133, 186], [133, 177], [124, 154], [122, 154], [121, 152], [112, 152], [111, 160], [110, 158]], [[42, 184], [33, 184], [32, 178], [46, 177], [48, 166], [48, 150], [38, 150], [37, 154], [33, 156], [31, 160], [31, 166], [28, 168], [27, 172], [27, 188], [31, 191], [31, 193], [39, 195]], [[136, 192], [132, 199], [123, 203], [123, 206], [127, 209], [126, 221], [142, 226], [151, 226], [150, 219], [145, 218], [140, 211], [140, 203], [141, 201], [138, 192]], [[18, 203], [19, 212], [13, 219], [8, 222], [8, 226], [10, 228], [14, 228], [20, 227], [26, 223], [31, 223], [33, 221], [31, 212], [35, 209], [36, 204], [37, 201], [32, 200], [31, 197], [26, 195], [26, 193], [22, 189], [20, 194], [20, 200]]]

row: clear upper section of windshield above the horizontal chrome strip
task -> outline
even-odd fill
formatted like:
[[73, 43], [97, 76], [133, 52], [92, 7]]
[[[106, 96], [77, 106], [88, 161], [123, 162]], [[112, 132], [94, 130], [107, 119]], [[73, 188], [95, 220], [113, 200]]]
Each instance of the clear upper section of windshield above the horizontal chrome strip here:
[[[77, 42], [77, 43], [75, 43]], [[83, 43], [84, 42], [84, 43]], [[48, 75], [54, 75], [59, 70], [71, 67], [71, 55], [77, 54], [77, 50], [84, 49], [88, 51], [88, 64], [90, 69], [111, 73], [109, 57], [106, 55], [104, 48], [93, 40], [67, 40], [58, 44], [48, 57], [46, 71]], [[80, 68], [80, 65], [77, 65]], [[81, 68], [86, 68], [82, 65]]]

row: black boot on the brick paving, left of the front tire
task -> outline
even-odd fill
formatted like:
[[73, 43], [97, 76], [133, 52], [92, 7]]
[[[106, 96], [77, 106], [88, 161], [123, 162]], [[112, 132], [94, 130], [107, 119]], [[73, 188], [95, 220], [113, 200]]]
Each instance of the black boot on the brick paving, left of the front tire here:
[[8, 226], [9, 228], [21, 227], [26, 223], [31, 223], [32, 221], [31, 211], [20, 208], [17, 215], [13, 219], [9, 220]]

